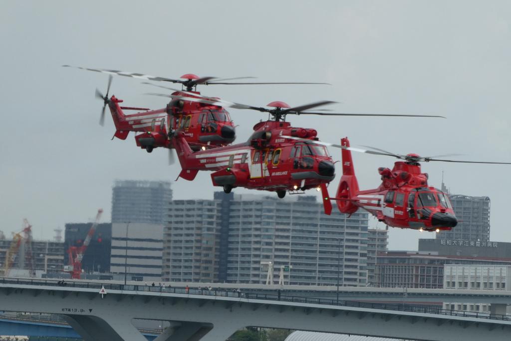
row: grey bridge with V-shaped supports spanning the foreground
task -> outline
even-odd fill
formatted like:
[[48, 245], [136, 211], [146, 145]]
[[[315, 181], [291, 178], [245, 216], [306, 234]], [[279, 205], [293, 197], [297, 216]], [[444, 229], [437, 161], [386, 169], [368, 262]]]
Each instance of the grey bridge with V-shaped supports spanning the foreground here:
[[419, 340], [509, 339], [505, 315], [467, 313], [225, 290], [37, 280], [0, 281], [0, 305], [8, 311], [54, 313], [86, 341], [145, 341], [132, 319], [170, 321], [156, 341], [224, 341], [246, 326]]

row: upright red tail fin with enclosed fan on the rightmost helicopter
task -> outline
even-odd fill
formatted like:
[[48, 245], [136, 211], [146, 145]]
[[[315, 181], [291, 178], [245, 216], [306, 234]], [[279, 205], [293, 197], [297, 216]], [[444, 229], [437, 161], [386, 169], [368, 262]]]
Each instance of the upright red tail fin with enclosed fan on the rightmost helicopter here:
[[[341, 138], [341, 145], [350, 147], [350, 141], [347, 137]], [[355, 168], [353, 167], [353, 159], [351, 151], [342, 150], [342, 177], [337, 188], [337, 208], [342, 213], [355, 213], [358, 209], [352, 199], [359, 191], [357, 177], [355, 176]]]

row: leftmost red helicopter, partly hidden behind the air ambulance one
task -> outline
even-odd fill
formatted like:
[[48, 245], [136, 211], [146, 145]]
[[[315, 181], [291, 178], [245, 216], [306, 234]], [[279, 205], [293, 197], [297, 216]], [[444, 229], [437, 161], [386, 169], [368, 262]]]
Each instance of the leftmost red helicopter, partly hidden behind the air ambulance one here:
[[[69, 65], [63, 66], [72, 67]], [[171, 137], [173, 132], [177, 129], [180, 129], [182, 136], [184, 136], [194, 151], [199, 150], [201, 147], [215, 147], [230, 144], [236, 138], [233, 120], [231, 120], [229, 113], [221, 106], [211, 106], [209, 104], [190, 101], [184, 102], [180, 99], [174, 99], [169, 102], [166, 108], [156, 110], [121, 106], [120, 103], [122, 103], [123, 100], [120, 100], [113, 95], [111, 98], [108, 97], [112, 75], [181, 84], [181, 90], [162, 87], [174, 91], [173, 95], [175, 96], [200, 96], [200, 92], [196, 91], [197, 85], [327, 84], [310, 82], [233, 83], [225, 81], [253, 77], [217, 79], [215, 77], [200, 78], [193, 74], [185, 74], [180, 77], [181, 79], [176, 80], [119, 70], [92, 69], [85, 67], [77, 68], [88, 71], [103, 72], [110, 75], [106, 95], [103, 95], [101, 91], [96, 89], [96, 97], [104, 102], [100, 125], [104, 125], [105, 108], [108, 105], [116, 129], [113, 136], [124, 140], [127, 138], [130, 131], [138, 132], [140, 134], [135, 136], [136, 145], [145, 149], [148, 153], [151, 153], [153, 149], [157, 147], [169, 149], [174, 148]], [[145, 84], [154, 85], [151, 83]], [[123, 110], [137, 110], [140, 112], [125, 115]], [[167, 118], [167, 124], [165, 118]], [[170, 155], [172, 156], [172, 154]]]

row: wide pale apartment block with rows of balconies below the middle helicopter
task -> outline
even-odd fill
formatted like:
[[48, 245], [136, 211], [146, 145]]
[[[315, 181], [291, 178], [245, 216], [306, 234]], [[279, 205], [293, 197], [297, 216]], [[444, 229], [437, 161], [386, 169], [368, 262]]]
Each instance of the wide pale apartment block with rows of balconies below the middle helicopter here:
[[315, 197], [215, 194], [173, 201], [164, 280], [366, 285], [367, 214], [322, 212]]

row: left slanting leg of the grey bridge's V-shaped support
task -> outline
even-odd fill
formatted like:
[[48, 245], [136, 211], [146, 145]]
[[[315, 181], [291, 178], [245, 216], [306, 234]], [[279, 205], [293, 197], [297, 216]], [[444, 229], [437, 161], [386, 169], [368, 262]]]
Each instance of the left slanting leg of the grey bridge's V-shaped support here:
[[96, 316], [63, 315], [84, 341], [147, 341], [123, 316], [109, 316], [108, 322]]

